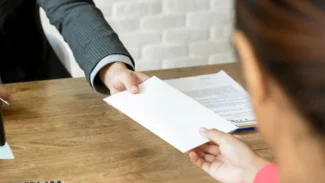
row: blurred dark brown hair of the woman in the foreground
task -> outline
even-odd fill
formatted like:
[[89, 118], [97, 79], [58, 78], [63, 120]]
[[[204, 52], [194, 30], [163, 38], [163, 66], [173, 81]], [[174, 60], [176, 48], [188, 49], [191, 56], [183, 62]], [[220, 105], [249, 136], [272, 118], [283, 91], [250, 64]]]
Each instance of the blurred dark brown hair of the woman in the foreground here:
[[312, 131], [325, 136], [324, 0], [237, 0], [236, 29]]

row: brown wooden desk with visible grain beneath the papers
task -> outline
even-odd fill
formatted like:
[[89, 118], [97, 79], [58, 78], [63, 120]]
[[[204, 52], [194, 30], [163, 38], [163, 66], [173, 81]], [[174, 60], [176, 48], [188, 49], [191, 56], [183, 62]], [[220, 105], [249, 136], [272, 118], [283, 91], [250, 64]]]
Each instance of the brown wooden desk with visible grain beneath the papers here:
[[[162, 79], [225, 70], [241, 83], [238, 64], [147, 72]], [[4, 106], [15, 160], [0, 160], [0, 182], [216, 183], [187, 155], [108, 106], [84, 78], [7, 85], [15, 101]], [[272, 160], [256, 132], [243, 133]]]

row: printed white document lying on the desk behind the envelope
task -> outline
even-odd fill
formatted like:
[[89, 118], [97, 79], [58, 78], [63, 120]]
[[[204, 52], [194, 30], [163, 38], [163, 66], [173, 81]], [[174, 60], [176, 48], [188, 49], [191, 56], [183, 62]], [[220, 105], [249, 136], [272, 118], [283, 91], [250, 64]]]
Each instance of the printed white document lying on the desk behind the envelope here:
[[236, 125], [255, 123], [248, 93], [224, 71], [165, 82]]

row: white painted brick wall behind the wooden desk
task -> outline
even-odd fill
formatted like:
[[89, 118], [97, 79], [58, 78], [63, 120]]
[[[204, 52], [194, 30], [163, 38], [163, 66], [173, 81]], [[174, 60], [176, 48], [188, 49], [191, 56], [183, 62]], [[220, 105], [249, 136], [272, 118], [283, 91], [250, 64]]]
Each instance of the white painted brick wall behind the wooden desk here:
[[[236, 61], [231, 45], [233, 0], [94, 2], [119, 34], [139, 71]], [[71, 50], [42, 13], [46, 31], [67, 48], [65, 64], [72, 75], [83, 76]]]

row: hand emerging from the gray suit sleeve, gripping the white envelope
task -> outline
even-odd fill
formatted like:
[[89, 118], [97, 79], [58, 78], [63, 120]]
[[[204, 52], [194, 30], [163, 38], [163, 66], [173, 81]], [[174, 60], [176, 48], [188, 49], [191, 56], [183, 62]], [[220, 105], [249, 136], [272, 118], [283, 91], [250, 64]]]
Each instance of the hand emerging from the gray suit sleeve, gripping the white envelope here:
[[107, 65], [100, 71], [99, 76], [112, 95], [124, 90], [133, 94], [139, 93], [138, 85], [149, 79], [143, 73], [131, 71], [121, 62]]

